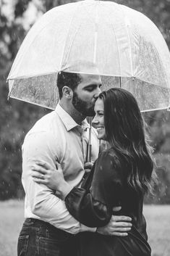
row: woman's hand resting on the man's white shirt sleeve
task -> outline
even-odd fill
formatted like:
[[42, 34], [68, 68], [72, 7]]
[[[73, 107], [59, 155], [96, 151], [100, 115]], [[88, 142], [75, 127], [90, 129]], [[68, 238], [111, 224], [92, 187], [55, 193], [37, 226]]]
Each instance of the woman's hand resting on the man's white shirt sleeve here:
[[63, 171], [61, 165], [57, 164], [57, 170], [51, 168], [48, 162], [35, 161], [35, 165], [31, 168], [33, 170], [32, 177], [36, 183], [45, 184], [50, 189], [56, 190], [56, 195], [64, 199], [69, 191], [72, 190], [72, 186], [64, 180]]

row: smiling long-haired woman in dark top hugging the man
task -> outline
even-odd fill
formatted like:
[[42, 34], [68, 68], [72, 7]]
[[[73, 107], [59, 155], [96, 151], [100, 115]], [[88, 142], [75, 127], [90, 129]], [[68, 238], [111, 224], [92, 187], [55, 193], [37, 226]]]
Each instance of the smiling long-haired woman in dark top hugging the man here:
[[93, 120], [98, 139], [109, 142], [98, 157], [81, 188], [72, 188], [64, 181], [61, 169], [54, 171], [38, 162], [44, 179], [33, 174], [35, 181], [56, 189], [67, 209], [86, 226], [105, 226], [112, 208], [120, 205], [119, 215], [132, 218], [128, 236], [79, 234], [82, 256], [149, 256], [150, 246], [143, 217], [143, 197], [151, 189], [153, 158], [145, 139], [143, 118], [135, 98], [122, 88], [103, 91], [95, 102]]

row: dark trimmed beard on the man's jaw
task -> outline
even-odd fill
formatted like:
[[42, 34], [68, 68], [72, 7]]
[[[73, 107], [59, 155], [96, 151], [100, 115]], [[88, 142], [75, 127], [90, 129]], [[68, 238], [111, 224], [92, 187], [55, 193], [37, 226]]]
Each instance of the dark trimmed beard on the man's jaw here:
[[93, 117], [95, 115], [94, 105], [88, 108], [88, 103], [82, 101], [75, 91], [73, 92], [72, 104], [85, 117]]

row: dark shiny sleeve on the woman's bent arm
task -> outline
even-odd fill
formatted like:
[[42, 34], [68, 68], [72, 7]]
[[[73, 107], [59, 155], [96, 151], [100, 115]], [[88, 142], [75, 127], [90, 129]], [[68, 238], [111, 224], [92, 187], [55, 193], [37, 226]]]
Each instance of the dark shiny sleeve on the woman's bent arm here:
[[86, 226], [105, 226], [109, 223], [112, 208], [119, 205], [122, 191], [120, 163], [110, 152], [102, 152], [90, 174], [86, 188], [74, 188], [65, 199], [73, 217]]

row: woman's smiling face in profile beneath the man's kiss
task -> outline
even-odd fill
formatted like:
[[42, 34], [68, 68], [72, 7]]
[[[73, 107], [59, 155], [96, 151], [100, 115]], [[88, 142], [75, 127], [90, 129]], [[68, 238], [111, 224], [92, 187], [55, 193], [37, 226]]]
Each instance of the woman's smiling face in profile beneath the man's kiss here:
[[97, 99], [95, 102], [95, 117], [93, 118], [93, 126], [98, 131], [98, 139], [106, 139], [104, 126], [104, 103], [103, 99]]

